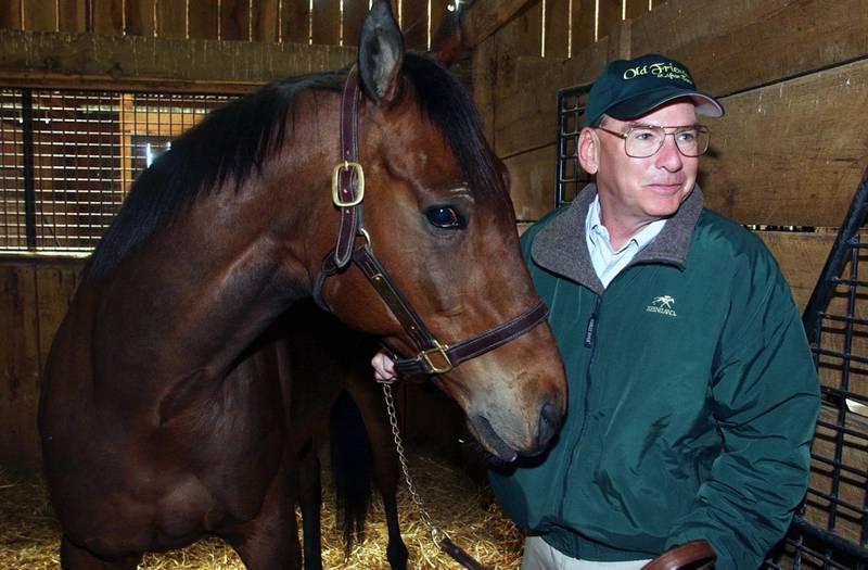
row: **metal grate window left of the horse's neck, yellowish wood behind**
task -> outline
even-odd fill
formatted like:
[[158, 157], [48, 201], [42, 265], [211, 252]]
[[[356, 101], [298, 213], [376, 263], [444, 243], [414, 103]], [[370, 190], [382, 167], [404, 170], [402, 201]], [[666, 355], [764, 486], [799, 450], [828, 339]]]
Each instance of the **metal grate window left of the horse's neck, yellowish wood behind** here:
[[224, 94], [0, 89], [0, 252], [89, 252], [132, 179]]

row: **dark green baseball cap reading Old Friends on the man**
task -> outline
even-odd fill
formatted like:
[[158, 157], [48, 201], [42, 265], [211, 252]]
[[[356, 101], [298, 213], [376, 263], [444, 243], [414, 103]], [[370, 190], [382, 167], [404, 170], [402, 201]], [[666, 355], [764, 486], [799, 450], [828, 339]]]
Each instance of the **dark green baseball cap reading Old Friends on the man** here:
[[698, 115], [719, 117], [724, 107], [697, 89], [687, 66], [656, 53], [635, 60], [615, 60], [593, 83], [585, 106], [586, 124], [599, 125], [603, 114], [628, 119], [681, 97], [693, 100]]

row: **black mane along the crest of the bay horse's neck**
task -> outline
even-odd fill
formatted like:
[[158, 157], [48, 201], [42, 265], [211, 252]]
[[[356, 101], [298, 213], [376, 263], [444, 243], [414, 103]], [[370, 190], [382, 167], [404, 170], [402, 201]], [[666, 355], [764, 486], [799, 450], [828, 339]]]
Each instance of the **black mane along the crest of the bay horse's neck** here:
[[88, 261], [85, 278], [107, 276], [137, 245], [199, 195], [231, 185], [235, 191], [261, 173], [293, 128], [299, 96], [340, 90], [343, 72], [270, 84], [210, 112], [175, 139], [133, 181], [124, 204]]

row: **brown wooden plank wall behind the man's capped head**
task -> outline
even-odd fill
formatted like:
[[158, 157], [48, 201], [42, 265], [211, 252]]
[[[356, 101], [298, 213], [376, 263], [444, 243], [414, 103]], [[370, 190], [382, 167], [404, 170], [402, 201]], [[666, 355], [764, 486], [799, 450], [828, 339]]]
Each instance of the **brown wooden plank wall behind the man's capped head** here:
[[[510, 169], [521, 221], [553, 206], [558, 90], [592, 81], [613, 59], [660, 52], [687, 64], [726, 107], [723, 118], [705, 119], [714, 151], [700, 175], [707, 205], [741, 224], [841, 224], [868, 165], [863, 0], [654, 2], [633, 18], [615, 17], [605, 36], [577, 47], [572, 58], [563, 49], [539, 56], [542, 3], [481, 46], [473, 66], [476, 101]], [[545, 3], [548, 10], [558, 4]], [[575, 40], [574, 34], [574, 47]], [[832, 237], [762, 238], [804, 306]]]

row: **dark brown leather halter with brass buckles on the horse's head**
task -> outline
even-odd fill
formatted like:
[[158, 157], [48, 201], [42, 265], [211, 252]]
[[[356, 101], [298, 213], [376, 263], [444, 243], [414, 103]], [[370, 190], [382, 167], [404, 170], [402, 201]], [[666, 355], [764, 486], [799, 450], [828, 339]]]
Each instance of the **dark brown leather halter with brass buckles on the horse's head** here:
[[[450, 345], [439, 342], [422, 322], [374, 255], [370, 236], [362, 224], [365, 172], [358, 157], [359, 97], [358, 73], [356, 66], [353, 66], [341, 96], [342, 161], [332, 172], [332, 200], [341, 214], [337, 243], [323, 259], [314, 284], [314, 300], [317, 304], [329, 311], [322, 299], [326, 279], [343, 270], [350, 261], [356, 262], [418, 351], [414, 357], [395, 359], [395, 370], [401, 376], [448, 372], [460, 363], [502, 346], [542, 322], [548, 309], [541, 300], [507, 322]], [[354, 248], [357, 238], [362, 238], [362, 242]]]

